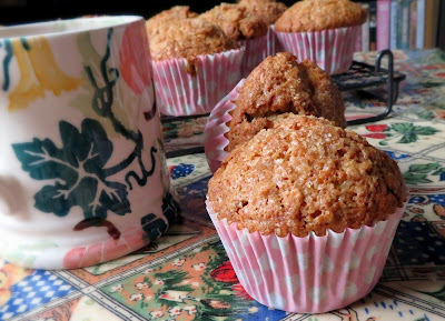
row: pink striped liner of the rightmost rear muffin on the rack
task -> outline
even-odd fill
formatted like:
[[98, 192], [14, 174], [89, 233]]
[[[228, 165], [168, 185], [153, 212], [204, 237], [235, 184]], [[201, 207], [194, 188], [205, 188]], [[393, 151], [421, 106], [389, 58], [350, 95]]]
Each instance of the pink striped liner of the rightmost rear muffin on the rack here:
[[350, 68], [360, 26], [314, 32], [275, 32], [278, 46], [298, 60], [312, 60], [329, 74]]

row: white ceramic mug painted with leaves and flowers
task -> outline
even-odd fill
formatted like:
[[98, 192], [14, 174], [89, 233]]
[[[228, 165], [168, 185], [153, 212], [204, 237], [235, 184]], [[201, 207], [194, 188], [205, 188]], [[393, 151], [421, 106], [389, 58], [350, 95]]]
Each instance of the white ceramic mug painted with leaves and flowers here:
[[142, 17], [0, 29], [0, 258], [80, 268], [175, 220]]

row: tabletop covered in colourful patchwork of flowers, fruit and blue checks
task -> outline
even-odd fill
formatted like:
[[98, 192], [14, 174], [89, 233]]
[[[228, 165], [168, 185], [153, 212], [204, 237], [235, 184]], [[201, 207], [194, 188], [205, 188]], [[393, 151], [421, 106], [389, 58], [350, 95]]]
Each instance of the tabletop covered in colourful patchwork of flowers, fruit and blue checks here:
[[[253, 300], [225, 264], [204, 204], [211, 173], [198, 153], [168, 160], [182, 213], [150, 245], [77, 270], [23, 270], [0, 261], [0, 320], [445, 320], [445, 54], [394, 56], [396, 70], [407, 76], [394, 113], [349, 128], [398, 161], [412, 193], [383, 275], [366, 298], [324, 314], [286, 313]], [[374, 63], [375, 57], [355, 59]], [[356, 93], [346, 99], [349, 118], [384, 106]], [[167, 148], [201, 146], [205, 123], [166, 124]]]

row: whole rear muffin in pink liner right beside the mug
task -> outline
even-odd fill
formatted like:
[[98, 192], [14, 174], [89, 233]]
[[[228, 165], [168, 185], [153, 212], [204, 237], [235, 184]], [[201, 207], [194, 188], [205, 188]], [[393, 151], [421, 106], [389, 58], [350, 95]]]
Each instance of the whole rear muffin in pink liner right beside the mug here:
[[241, 78], [244, 48], [207, 20], [169, 20], [149, 47], [162, 114], [208, 113]]

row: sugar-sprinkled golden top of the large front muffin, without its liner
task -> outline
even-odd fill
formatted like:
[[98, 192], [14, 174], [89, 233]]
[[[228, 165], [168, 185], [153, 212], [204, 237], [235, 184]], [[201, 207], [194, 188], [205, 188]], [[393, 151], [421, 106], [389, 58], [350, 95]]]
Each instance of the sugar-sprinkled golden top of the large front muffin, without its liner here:
[[372, 225], [406, 198], [385, 152], [328, 120], [293, 113], [239, 144], [208, 184], [218, 219], [278, 237]]

